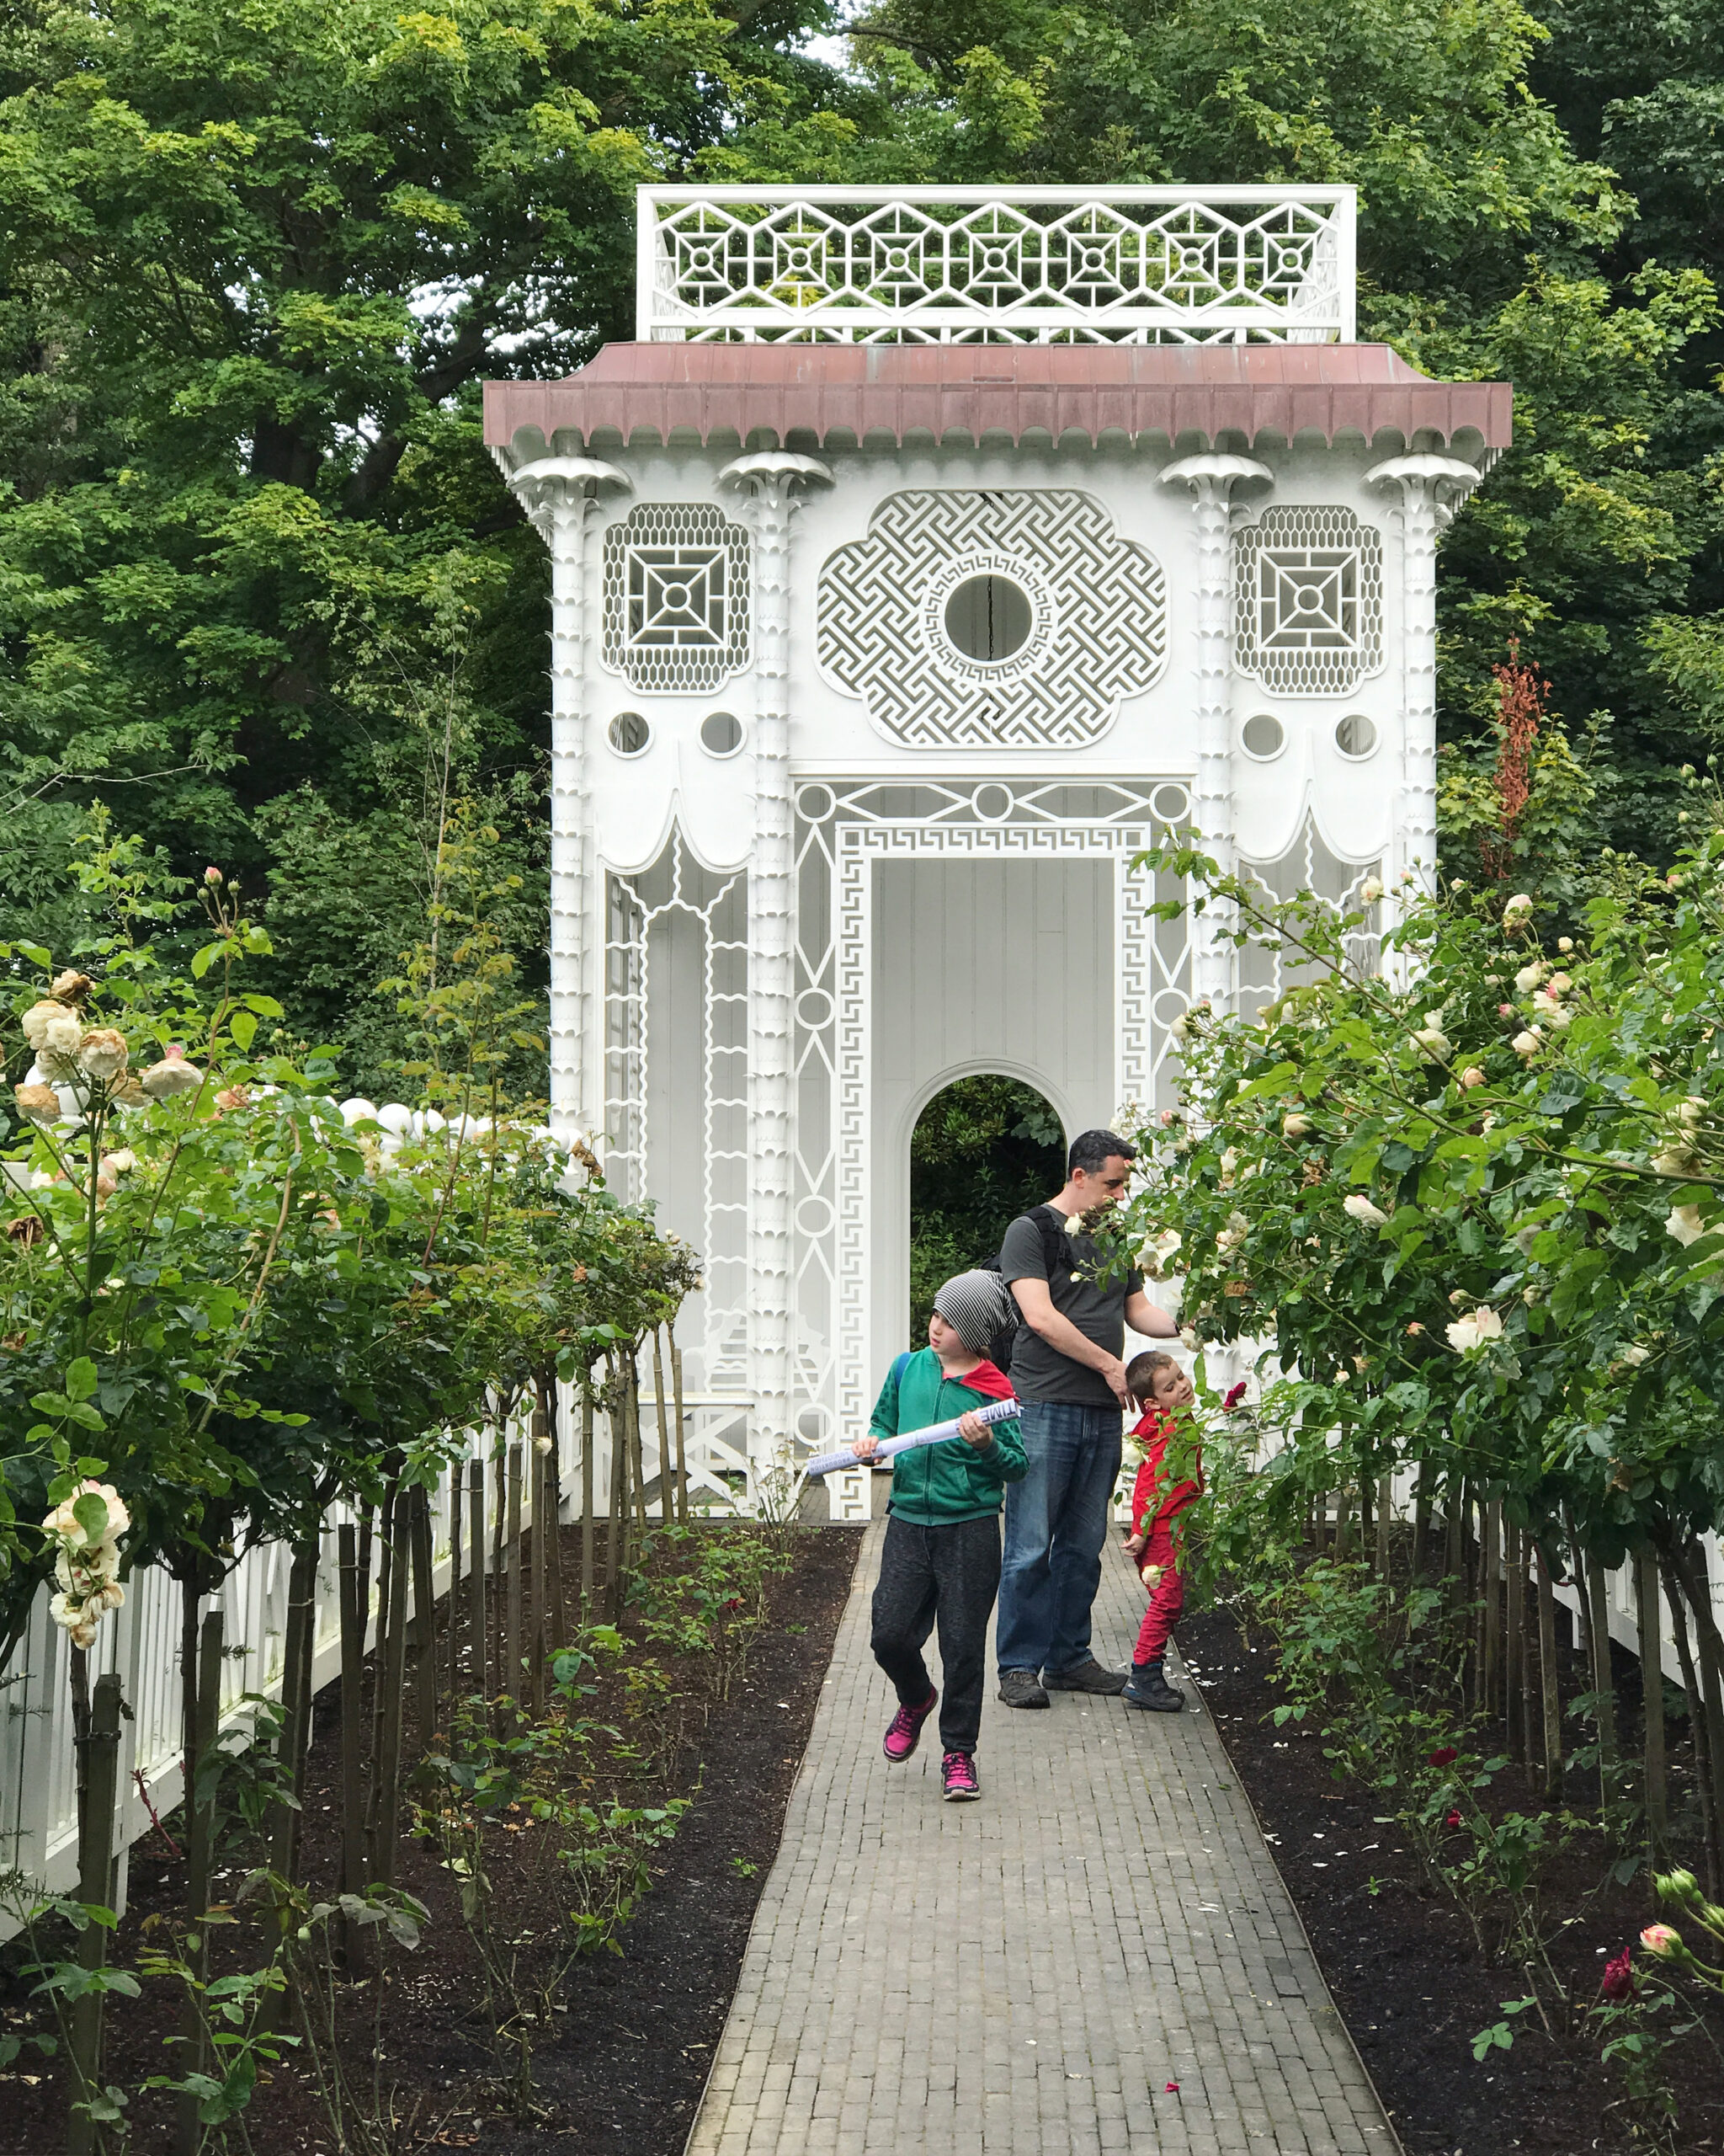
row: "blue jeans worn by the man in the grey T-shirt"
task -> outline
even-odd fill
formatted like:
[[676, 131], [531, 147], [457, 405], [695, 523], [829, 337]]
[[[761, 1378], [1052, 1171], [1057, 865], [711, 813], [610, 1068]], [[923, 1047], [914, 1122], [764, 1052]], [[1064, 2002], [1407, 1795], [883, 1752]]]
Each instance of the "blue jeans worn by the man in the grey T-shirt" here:
[[1030, 1473], [1006, 1483], [1000, 1669], [1075, 1669], [1090, 1654], [1108, 1505], [1118, 1481], [1121, 1410], [1026, 1401]]

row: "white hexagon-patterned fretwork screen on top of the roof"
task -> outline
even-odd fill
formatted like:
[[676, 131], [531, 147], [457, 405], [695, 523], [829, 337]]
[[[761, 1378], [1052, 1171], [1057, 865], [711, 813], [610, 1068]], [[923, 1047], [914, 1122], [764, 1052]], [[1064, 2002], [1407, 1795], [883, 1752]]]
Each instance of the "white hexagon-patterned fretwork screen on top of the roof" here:
[[1351, 345], [1353, 188], [642, 188], [636, 336]]

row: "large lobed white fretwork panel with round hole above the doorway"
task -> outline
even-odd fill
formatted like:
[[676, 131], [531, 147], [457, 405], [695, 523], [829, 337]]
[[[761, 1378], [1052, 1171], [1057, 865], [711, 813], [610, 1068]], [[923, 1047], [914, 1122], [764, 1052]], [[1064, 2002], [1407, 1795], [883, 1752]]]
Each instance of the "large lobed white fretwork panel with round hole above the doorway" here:
[[[961, 647], [959, 586], [1015, 586], [1013, 647]], [[1067, 487], [890, 494], [819, 580], [825, 675], [905, 748], [1082, 748], [1166, 660], [1166, 584]]]

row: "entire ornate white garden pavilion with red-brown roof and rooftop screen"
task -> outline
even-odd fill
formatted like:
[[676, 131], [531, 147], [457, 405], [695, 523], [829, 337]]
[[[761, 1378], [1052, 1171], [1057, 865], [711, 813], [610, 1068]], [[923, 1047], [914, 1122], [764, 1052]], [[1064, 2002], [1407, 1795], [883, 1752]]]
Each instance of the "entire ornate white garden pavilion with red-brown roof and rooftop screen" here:
[[1431, 871], [1435, 548], [1511, 392], [1353, 343], [1353, 218], [646, 188], [638, 343], [487, 386], [552, 554], [552, 1112], [705, 1253], [756, 1460], [905, 1343], [933, 1093], [1106, 1123], [1267, 985], [1144, 918], [1164, 826]]

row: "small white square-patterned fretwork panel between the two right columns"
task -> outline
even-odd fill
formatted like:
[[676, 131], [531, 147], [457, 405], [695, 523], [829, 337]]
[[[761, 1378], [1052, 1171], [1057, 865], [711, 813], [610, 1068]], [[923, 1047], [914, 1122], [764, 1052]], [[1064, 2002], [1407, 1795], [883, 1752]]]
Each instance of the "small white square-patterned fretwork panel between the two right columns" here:
[[1278, 696], [1345, 696], [1384, 662], [1384, 543], [1351, 509], [1265, 509], [1237, 539], [1239, 671]]

